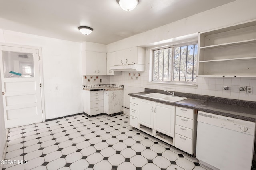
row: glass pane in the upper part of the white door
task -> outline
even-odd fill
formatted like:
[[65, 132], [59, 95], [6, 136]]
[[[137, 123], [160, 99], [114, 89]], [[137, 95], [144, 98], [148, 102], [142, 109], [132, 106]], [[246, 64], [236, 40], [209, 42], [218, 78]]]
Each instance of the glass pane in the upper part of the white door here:
[[4, 78], [34, 77], [32, 53], [2, 51]]

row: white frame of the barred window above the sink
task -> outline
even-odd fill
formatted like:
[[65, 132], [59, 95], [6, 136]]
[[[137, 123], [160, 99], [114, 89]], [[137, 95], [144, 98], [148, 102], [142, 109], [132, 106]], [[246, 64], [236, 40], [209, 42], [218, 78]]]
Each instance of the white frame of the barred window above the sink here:
[[[196, 81], [193, 82], [188, 82], [188, 81], [156, 81], [153, 80], [153, 76], [154, 76], [154, 51], [155, 50], [159, 50], [159, 49], [166, 49], [166, 48], [170, 48], [172, 47], [172, 66], [171, 66], [171, 79], [173, 79], [173, 69], [174, 69], [174, 48], [175, 47], [182, 47], [182, 46], [188, 46], [188, 45], [194, 45], [198, 44], [198, 40], [192, 40], [192, 41], [188, 41], [188, 42], [181, 42], [181, 43], [172, 43], [169, 45], [162, 45], [162, 46], [158, 46], [158, 47], [152, 47], [150, 48], [150, 68], [149, 68], [149, 83], [156, 83], [156, 84], [174, 84], [174, 85], [188, 85], [188, 86], [197, 86]], [[197, 49], [198, 50], [198, 49]], [[197, 59], [196, 59], [196, 72], [198, 71], [198, 57], [199, 57], [199, 50], [197, 51]], [[197, 73], [196, 73], [196, 77], [197, 77]]]

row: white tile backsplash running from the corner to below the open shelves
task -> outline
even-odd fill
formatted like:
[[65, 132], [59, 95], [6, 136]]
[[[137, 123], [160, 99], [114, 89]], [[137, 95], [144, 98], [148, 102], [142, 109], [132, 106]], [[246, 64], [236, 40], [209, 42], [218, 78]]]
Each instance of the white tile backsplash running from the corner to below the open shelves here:
[[[138, 79], [131, 79], [129, 73], [136, 75], [140, 73]], [[124, 85], [124, 89], [138, 89], [151, 88], [159, 90], [178, 91], [184, 93], [193, 93], [199, 95], [209, 95], [215, 97], [224, 97], [230, 99], [240, 99], [247, 101], [256, 101], [256, 77], [196, 77], [197, 87], [149, 83], [149, 71], [144, 72], [130, 71], [122, 72], [122, 75], [110, 76], [110, 83]], [[224, 86], [229, 86], [230, 89], [223, 90]], [[254, 91], [253, 94], [247, 94], [245, 91], [239, 91], [241, 86], [251, 86]], [[143, 91], [143, 90], [140, 90]], [[137, 91], [137, 92], [140, 92]], [[136, 91], [135, 91], [136, 92]], [[135, 93], [134, 92], [134, 93]], [[124, 92], [124, 96], [128, 95]]]

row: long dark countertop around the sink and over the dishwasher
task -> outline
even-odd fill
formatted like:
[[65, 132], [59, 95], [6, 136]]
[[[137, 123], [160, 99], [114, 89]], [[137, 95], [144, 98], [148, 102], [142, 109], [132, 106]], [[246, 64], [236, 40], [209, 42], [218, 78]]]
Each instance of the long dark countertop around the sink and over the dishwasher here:
[[172, 103], [168, 101], [162, 101], [158, 99], [152, 99], [149, 97], [141, 96], [148, 93], [159, 93], [159, 92], [163, 93], [163, 91], [160, 91], [160, 90], [154, 91], [154, 89], [145, 89], [144, 92], [131, 93], [129, 95], [133, 97], [138, 97], [141, 99], [168, 104], [168, 105], [186, 107], [190, 109], [196, 109], [198, 111], [213, 113], [216, 115], [222, 115], [222, 116], [232, 117], [236, 119], [256, 122], [256, 102], [241, 101], [241, 100], [235, 100], [235, 99], [224, 99], [224, 98], [210, 97], [210, 96], [207, 97], [207, 100], [206, 100], [206, 97], [204, 95], [193, 95], [193, 94], [178, 93], [178, 92], [175, 93], [176, 96], [187, 97], [188, 99]]

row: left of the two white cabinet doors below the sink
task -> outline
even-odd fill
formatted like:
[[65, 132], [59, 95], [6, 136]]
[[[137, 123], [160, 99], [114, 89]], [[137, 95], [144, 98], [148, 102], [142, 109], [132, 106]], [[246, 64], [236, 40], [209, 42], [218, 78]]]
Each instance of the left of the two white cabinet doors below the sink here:
[[138, 123], [154, 128], [154, 101], [139, 99]]

